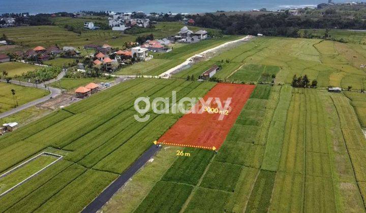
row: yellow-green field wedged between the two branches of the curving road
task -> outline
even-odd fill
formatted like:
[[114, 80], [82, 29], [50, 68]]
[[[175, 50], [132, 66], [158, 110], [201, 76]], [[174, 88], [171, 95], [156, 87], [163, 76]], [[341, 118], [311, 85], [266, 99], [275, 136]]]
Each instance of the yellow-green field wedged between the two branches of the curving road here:
[[[15, 90], [14, 97], [11, 91], [12, 89]], [[22, 105], [47, 94], [47, 90], [0, 82], [0, 113], [14, 108], [17, 101], [18, 105]]]

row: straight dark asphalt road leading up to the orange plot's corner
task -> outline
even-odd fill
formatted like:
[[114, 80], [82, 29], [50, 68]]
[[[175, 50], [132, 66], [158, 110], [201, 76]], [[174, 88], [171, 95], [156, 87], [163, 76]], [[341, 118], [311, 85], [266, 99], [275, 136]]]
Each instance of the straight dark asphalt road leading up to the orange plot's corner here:
[[135, 161], [130, 168], [123, 172], [96, 199], [87, 205], [81, 213], [95, 213], [116, 193], [130, 178], [159, 151], [161, 147], [153, 145]]

